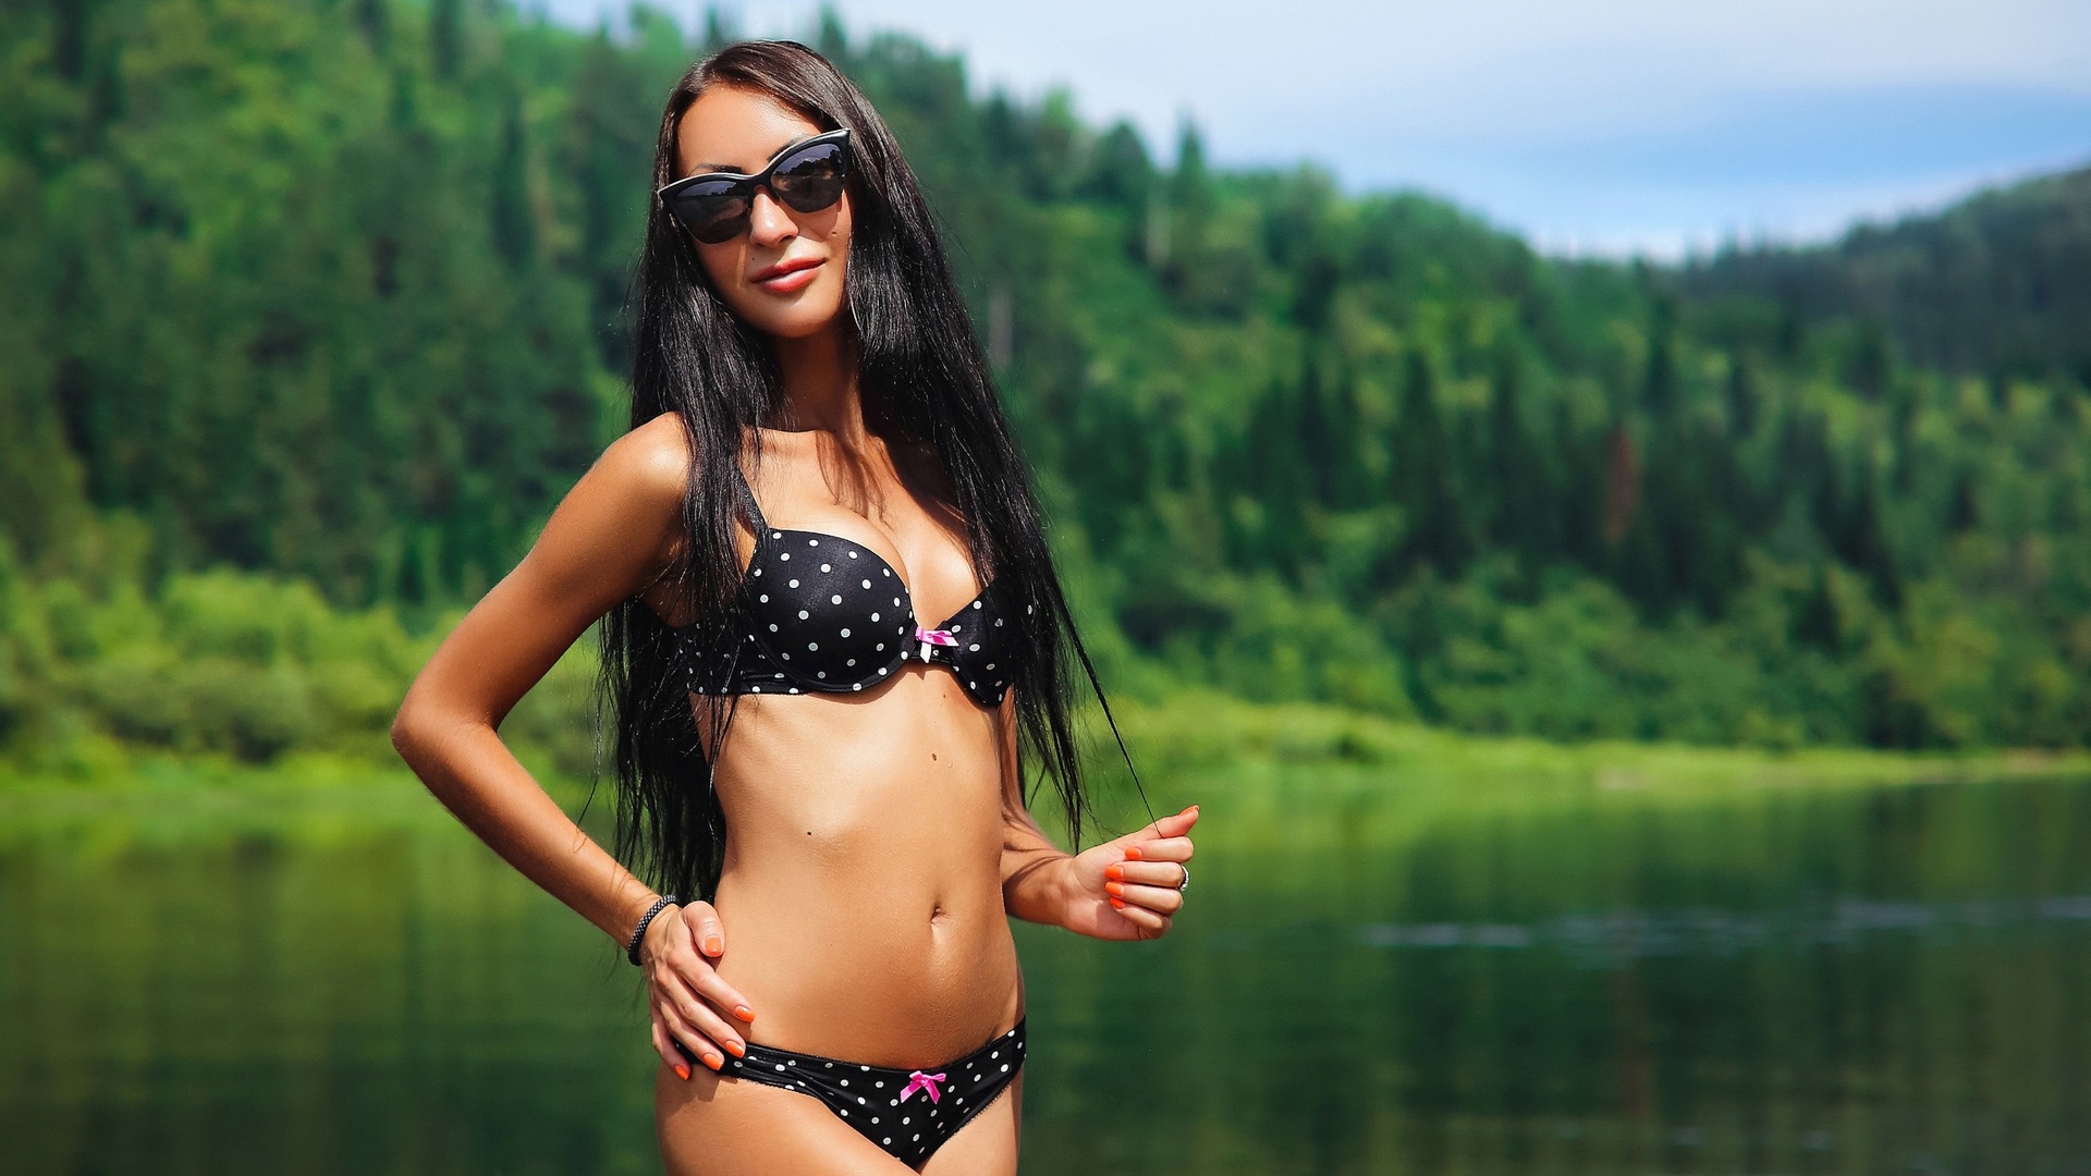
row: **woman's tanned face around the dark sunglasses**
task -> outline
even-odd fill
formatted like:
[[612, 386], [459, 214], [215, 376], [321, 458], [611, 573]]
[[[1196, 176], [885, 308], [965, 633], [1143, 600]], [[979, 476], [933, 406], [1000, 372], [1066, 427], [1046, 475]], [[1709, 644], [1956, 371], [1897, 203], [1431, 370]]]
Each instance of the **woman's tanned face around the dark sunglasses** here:
[[[759, 90], [711, 86], [682, 115], [675, 176], [753, 176], [780, 151], [822, 130]], [[805, 339], [834, 324], [843, 310], [849, 226], [847, 190], [834, 205], [805, 213], [759, 188], [746, 232], [717, 245], [690, 243], [713, 289], [749, 326]]]

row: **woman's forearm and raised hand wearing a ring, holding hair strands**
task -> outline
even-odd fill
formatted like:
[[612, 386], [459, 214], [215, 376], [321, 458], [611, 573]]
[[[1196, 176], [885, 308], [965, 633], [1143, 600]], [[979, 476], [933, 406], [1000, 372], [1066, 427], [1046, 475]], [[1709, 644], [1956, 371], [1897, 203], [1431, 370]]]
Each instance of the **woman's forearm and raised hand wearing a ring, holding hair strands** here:
[[1025, 806], [1016, 776], [1016, 691], [1002, 699], [1002, 906], [1014, 919], [1096, 940], [1154, 940], [1184, 908], [1198, 806], [1146, 829], [1062, 852]]

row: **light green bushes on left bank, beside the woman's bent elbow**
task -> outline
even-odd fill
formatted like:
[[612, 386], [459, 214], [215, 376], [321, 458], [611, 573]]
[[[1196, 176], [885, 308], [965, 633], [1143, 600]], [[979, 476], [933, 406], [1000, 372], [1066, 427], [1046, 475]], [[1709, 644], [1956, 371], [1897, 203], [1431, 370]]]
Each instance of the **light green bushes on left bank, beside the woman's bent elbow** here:
[[[389, 607], [343, 611], [307, 584], [234, 571], [134, 582], [8, 580], [0, 755], [59, 774], [132, 751], [272, 762], [389, 757], [385, 732], [431, 653]], [[577, 647], [504, 722], [569, 776], [594, 768], [592, 665]]]

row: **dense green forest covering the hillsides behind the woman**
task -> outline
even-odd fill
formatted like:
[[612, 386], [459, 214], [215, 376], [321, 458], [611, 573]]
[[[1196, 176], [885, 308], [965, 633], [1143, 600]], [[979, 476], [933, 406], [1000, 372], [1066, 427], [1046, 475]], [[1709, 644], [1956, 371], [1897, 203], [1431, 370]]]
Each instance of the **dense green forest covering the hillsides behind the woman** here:
[[[625, 425], [661, 103], [734, 36], [0, 8], [0, 762], [383, 755], [429, 642]], [[2091, 741], [2091, 169], [1828, 245], [1562, 259], [832, 15], [805, 38], [947, 226], [1110, 688]], [[514, 722], [565, 722], [588, 661]]]

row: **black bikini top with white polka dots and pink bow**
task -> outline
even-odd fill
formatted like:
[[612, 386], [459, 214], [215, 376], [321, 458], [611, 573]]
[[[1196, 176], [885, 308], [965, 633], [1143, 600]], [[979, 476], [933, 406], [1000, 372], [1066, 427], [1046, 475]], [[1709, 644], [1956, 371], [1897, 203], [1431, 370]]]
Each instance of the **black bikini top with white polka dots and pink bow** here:
[[696, 695], [855, 693], [910, 659], [951, 670], [983, 707], [1002, 705], [1018, 649], [999, 582], [937, 628], [878, 552], [824, 532], [774, 529], [734, 471], [755, 529], [740, 607], [726, 624], [677, 630]]

